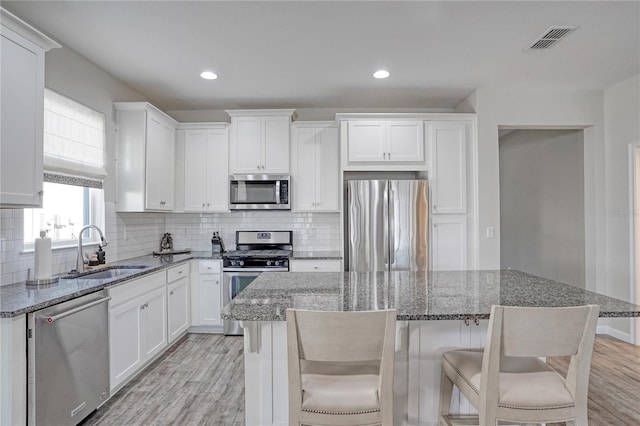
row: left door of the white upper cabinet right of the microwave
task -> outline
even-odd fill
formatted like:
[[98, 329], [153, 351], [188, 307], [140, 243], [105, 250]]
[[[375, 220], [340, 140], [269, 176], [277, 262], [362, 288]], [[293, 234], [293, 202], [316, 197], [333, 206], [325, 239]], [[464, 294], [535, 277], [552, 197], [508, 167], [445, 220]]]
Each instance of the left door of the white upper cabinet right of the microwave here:
[[[316, 207], [316, 129], [299, 127], [294, 130], [292, 196], [294, 211], [310, 211]], [[338, 173], [336, 173], [336, 177]]]

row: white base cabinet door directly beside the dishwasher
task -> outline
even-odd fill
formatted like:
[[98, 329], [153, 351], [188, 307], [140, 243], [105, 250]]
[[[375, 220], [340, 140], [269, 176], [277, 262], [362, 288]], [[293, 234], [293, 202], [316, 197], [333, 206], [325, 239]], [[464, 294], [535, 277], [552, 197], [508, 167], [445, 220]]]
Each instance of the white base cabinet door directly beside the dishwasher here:
[[109, 383], [113, 390], [142, 364], [142, 298], [109, 310]]

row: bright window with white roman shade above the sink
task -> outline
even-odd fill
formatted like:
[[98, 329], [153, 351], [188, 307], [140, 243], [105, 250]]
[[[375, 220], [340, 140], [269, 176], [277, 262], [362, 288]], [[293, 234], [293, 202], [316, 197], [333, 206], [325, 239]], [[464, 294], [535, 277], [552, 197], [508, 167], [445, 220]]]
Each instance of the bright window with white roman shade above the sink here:
[[[104, 229], [104, 114], [45, 89], [43, 207], [24, 210], [24, 248], [42, 230], [53, 247], [74, 245], [83, 226]], [[87, 242], [98, 242], [87, 231]]]

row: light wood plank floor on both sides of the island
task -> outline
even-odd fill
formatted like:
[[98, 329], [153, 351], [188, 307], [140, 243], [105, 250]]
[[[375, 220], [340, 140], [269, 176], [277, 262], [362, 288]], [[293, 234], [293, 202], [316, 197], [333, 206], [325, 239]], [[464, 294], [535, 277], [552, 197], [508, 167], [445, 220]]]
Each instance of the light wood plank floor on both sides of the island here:
[[[244, 425], [242, 345], [241, 337], [187, 335], [84, 425]], [[567, 359], [548, 362], [566, 372]], [[596, 338], [589, 424], [640, 425], [640, 347]]]

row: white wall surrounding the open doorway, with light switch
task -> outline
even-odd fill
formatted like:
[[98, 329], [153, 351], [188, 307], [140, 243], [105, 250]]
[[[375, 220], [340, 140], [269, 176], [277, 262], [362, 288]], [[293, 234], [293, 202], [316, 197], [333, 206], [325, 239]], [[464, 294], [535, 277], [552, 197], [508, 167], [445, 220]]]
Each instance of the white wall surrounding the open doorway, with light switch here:
[[[479, 269], [500, 268], [498, 127], [584, 129], [586, 287], [606, 293], [604, 279], [603, 91], [480, 89], [456, 111], [478, 117]], [[484, 230], [492, 226], [495, 238]]]

